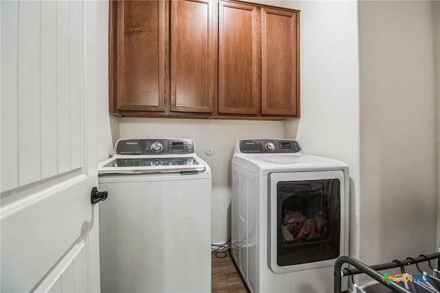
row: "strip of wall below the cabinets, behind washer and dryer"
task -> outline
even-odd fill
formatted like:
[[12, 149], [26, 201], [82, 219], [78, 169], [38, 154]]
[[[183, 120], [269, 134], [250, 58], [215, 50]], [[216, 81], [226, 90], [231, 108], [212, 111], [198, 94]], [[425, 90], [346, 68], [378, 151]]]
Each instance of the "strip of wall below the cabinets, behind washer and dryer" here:
[[[212, 243], [230, 239], [230, 160], [235, 143], [245, 138], [282, 138], [283, 122], [123, 118], [120, 138], [192, 138], [197, 154], [212, 171]], [[214, 149], [214, 155], [205, 149]], [[195, 203], [197, 204], [197, 203]]]

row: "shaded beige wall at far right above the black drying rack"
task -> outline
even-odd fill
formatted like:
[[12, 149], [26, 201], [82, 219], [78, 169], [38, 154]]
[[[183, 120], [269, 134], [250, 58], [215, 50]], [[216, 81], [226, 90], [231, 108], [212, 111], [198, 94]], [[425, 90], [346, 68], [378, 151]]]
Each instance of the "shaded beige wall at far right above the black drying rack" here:
[[359, 3], [360, 258], [366, 263], [434, 252], [432, 15], [430, 1]]

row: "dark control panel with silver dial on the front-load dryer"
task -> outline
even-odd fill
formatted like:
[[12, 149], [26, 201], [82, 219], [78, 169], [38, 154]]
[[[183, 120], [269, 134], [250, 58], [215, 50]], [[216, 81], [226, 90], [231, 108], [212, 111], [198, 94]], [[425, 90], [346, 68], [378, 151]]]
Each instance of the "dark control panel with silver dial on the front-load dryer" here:
[[239, 140], [241, 153], [299, 153], [296, 140]]

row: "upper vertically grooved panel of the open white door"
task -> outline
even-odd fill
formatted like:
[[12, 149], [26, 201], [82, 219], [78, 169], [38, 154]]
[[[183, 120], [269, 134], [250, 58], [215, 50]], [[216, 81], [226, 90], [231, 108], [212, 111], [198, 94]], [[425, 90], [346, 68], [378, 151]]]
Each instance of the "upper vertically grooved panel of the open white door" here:
[[81, 1], [3, 1], [1, 16], [3, 193], [83, 166], [85, 32]]

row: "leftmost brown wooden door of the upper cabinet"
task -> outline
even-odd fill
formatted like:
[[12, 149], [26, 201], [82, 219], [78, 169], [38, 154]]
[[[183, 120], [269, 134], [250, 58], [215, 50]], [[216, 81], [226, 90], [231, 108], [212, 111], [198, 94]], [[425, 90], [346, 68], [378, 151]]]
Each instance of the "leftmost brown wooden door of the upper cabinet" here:
[[118, 1], [116, 107], [164, 111], [165, 1]]

